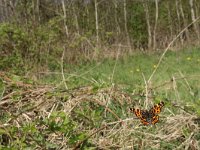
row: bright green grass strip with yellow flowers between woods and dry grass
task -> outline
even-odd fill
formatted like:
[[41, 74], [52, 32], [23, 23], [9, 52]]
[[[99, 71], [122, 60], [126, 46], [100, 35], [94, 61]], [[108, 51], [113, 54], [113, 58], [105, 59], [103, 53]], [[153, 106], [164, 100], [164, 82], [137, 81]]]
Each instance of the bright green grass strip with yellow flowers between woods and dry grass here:
[[[69, 88], [94, 85], [121, 85], [126, 91], [145, 89], [154, 69], [156, 73], [150, 81], [153, 88], [176, 79], [166, 87], [155, 89], [156, 93], [165, 95], [168, 99], [182, 99], [189, 103], [199, 99], [200, 89], [200, 50], [188, 49], [182, 51], [168, 51], [161, 64], [157, 63], [160, 53], [135, 53], [116, 59], [104, 59], [79, 65], [68, 65], [64, 68], [66, 84]], [[58, 85], [62, 82], [61, 72], [41, 78], [43, 82]], [[146, 80], [146, 81], [145, 81]], [[63, 84], [60, 84], [63, 85]], [[175, 87], [176, 86], [176, 87]], [[166, 91], [166, 89], [168, 89]], [[178, 95], [176, 93], [179, 93]]]

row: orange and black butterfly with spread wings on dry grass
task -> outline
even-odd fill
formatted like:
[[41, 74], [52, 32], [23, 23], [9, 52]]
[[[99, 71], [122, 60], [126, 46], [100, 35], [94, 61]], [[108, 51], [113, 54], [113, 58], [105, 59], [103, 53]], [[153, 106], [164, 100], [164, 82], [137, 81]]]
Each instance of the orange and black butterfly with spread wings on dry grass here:
[[154, 105], [150, 110], [141, 110], [136, 108], [130, 108], [130, 110], [135, 113], [143, 125], [154, 125], [159, 121], [158, 114], [161, 112], [163, 106], [164, 102], [160, 102]]

